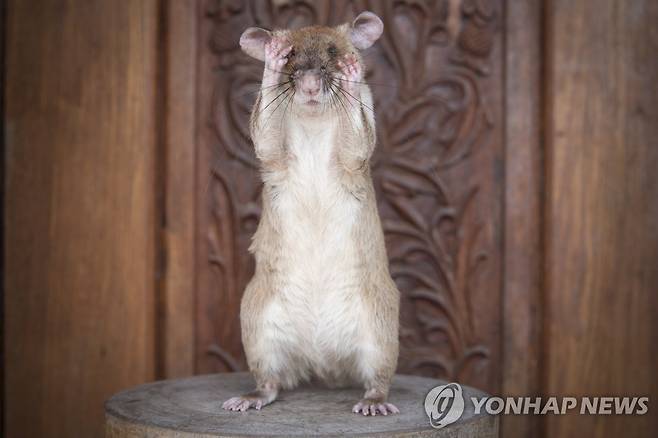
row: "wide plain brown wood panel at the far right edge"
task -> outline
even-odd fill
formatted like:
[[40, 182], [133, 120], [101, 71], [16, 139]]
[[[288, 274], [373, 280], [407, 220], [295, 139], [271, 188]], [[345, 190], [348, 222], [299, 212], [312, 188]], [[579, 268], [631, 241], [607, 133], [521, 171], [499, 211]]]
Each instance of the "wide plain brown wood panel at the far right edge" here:
[[[545, 392], [658, 400], [658, 3], [547, 5]], [[649, 437], [644, 416], [547, 416], [547, 437]]]

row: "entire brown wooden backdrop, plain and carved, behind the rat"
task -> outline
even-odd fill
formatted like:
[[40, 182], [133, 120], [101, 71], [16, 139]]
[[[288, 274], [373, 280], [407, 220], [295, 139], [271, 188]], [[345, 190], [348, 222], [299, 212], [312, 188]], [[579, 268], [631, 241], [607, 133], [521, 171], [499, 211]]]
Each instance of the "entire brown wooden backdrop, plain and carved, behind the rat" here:
[[101, 436], [121, 389], [245, 369], [262, 64], [239, 36], [365, 9], [399, 371], [650, 397], [501, 436], [654, 436], [654, 0], [2, 2], [5, 436]]

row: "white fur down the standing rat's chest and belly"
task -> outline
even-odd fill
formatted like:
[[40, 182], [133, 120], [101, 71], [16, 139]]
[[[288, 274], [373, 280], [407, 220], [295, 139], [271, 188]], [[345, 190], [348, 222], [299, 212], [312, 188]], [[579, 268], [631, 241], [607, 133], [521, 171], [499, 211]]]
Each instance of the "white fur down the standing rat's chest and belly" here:
[[[266, 330], [278, 339], [270, 354], [274, 368], [299, 367], [297, 378], [324, 380], [336, 361], [355, 356], [363, 330], [359, 260], [352, 227], [359, 202], [340, 184], [332, 167], [332, 135], [326, 131], [291, 136], [289, 176], [278, 187], [273, 211], [281, 224], [283, 285], [264, 309]], [[266, 347], [267, 348], [267, 347]]]

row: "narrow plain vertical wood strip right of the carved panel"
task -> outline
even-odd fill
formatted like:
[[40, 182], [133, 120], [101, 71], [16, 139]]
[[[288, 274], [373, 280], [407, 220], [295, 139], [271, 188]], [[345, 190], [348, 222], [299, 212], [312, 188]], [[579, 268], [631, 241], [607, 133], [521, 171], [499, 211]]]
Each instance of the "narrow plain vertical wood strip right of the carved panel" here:
[[[543, 167], [541, 1], [505, 14], [505, 261], [501, 391], [539, 395]], [[502, 436], [535, 437], [539, 419], [501, 417]]]

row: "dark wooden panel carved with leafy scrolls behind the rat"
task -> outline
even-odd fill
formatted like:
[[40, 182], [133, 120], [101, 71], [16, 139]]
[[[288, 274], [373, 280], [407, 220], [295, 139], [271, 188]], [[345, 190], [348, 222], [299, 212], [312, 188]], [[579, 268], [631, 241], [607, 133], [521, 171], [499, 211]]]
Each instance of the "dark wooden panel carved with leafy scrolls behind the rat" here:
[[245, 367], [239, 303], [261, 183], [247, 120], [262, 64], [246, 27], [384, 21], [365, 54], [373, 159], [402, 292], [399, 370], [499, 387], [502, 57], [499, 1], [206, 1], [200, 11], [196, 371]]

